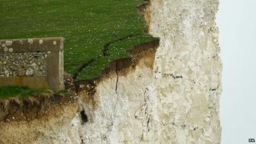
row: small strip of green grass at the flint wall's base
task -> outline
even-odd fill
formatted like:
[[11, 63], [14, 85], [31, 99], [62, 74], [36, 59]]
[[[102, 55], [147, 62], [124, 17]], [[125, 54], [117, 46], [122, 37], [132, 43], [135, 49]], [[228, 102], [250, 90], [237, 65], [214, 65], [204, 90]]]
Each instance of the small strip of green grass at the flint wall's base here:
[[26, 86], [1, 86], [0, 100], [9, 99], [10, 97], [20, 97], [20, 98], [31, 97], [33, 93], [46, 94], [46, 93], [49, 93], [49, 90], [30, 89]]

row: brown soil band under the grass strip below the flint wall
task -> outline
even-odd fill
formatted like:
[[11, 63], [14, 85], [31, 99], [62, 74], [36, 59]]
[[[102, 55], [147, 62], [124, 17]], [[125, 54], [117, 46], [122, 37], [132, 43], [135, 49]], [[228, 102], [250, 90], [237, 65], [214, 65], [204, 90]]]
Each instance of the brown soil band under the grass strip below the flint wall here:
[[[0, 122], [19, 122], [19, 121], [31, 121], [39, 118], [46, 118], [47, 116], [53, 116], [54, 111], [60, 111], [63, 106], [68, 104], [77, 104], [78, 97], [76, 95], [70, 95], [68, 97], [61, 95], [54, 95], [52, 97], [37, 97], [34, 103], [28, 100], [23, 100], [22, 105], [15, 101], [10, 101], [6, 108], [3, 108], [3, 104], [0, 109]], [[55, 110], [54, 110], [55, 109]]]

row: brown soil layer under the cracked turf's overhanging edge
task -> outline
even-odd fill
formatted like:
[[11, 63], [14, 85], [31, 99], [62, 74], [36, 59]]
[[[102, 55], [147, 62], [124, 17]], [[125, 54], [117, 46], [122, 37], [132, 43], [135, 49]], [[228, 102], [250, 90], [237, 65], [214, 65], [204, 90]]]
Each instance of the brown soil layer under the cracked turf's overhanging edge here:
[[[88, 81], [77, 81], [76, 90], [77, 92], [86, 90], [88, 95], [94, 95], [96, 92], [95, 87], [97, 86], [102, 79], [106, 79], [111, 77], [111, 74], [118, 72], [120, 76], [125, 76], [127, 72], [129, 72], [128, 68], [134, 68], [138, 64], [138, 62], [145, 58], [145, 56], [152, 58], [152, 63], [154, 63], [154, 57], [156, 53], [156, 49], [159, 46], [159, 40], [154, 40], [152, 42], [147, 42], [145, 44], [135, 46], [129, 53], [131, 54], [131, 58], [119, 59], [113, 61], [108, 68], [102, 72], [100, 77], [95, 79], [91, 79]], [[147, 65], [148, 67], [153, 67], [153, 64]]]

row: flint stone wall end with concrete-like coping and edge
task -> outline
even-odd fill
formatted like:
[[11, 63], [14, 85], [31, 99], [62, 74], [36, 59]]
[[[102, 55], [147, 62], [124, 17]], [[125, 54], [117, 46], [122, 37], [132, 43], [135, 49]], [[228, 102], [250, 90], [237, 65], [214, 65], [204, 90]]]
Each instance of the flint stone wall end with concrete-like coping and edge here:
[[63, 38], [0, 40], [0, 86], [63, 90]]

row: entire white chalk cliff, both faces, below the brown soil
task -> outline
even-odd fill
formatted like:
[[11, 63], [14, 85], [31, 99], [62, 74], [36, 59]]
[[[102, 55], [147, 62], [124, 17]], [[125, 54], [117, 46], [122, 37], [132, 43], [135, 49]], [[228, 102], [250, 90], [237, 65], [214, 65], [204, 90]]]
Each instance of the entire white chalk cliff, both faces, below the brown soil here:
[[218, 0], [149, 4], [148, 32], [160, 38], [157, 50], [141, 52], [136, 65], [110, 72], [93, 95], [77, 93], [82, 113], [67, 111], [62, 114], [67, 118], [44, 120], [40, 129], [20, 122], [29, 132], [40, 131], [21, 143], [220, 143]]

